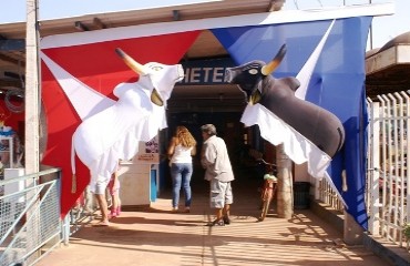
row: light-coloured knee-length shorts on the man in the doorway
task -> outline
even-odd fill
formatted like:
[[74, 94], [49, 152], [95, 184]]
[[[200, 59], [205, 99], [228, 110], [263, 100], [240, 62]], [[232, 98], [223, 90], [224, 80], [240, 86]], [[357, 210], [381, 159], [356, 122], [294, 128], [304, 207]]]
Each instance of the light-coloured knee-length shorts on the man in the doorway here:
[[223, 208], [225, 204], [233, 204], [233, 202], [234, 195], [230, 182], [221, 182], [213, 178], [211, 181], [211, 207]]

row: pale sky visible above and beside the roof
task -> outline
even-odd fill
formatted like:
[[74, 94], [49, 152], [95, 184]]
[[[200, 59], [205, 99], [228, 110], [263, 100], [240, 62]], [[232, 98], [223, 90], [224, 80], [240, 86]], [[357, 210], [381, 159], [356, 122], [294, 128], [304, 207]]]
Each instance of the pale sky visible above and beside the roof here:
[[[221, 1], [221, 0], [211, 0]], [[153, 7], [180, 6], [209, 0], [39, 0], [40, 20], [76, 17], [90, 13], [115, 12], [148, 9]], [[410, 0], [286, 0], [283, 10], [316, 9], [363, 3], [394, 2], [396, 12], [391, 16], [376, 17], [372, 21], [371, 48], [380, 48], [392, 38], [410, 31]], [[25, 21], [25, 0], [0, 0], [0, 23]], [[0, 32], [1, 34], [1, 32]]]

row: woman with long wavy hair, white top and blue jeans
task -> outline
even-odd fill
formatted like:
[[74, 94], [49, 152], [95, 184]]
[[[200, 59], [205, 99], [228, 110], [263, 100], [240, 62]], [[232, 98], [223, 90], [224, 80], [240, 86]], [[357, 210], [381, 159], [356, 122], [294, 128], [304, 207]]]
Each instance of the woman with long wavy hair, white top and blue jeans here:
[[181, 186], [185, 194], [185, 213], [191, 212], [193, 174], [192, 156], [196, 154], [196, 141], [185, 126], [177, 126], [167, 150], [172, 177], [172, 211], [178, 211]]

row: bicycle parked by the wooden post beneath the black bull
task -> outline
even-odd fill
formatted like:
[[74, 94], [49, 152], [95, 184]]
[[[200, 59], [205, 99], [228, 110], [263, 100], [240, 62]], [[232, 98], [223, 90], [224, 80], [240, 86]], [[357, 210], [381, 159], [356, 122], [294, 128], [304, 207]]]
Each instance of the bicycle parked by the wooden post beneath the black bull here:
[[260, 158], [259, 161], [270, 166], [269, 173], [264, 175], [264, 186], [260, 192], [262, 213], [258, 221], [263, 222], [269, 212], [270, 203], [276, 194], [278, 178], [274, 175], [273, 171], [273, 167], [276, 166], [275, 164], [267, 163], [263, 158]]

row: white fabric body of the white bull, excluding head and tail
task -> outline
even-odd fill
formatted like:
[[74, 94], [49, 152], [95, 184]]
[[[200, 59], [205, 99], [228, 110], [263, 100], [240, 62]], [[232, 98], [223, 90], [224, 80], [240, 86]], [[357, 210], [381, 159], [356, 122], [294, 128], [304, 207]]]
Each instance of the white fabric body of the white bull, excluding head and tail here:
[[84, 120], [74, 132], [73, 145], [90, 168], [92, 192], [99, 180], [107, 184], [119, 160], [131, 160], [137, 153], [140, 141], [156, 135], [144, 131], [153, 112], [147, 92], [136, 83], [120, 84], [114, 90], [120, 98], [116, 104]]

